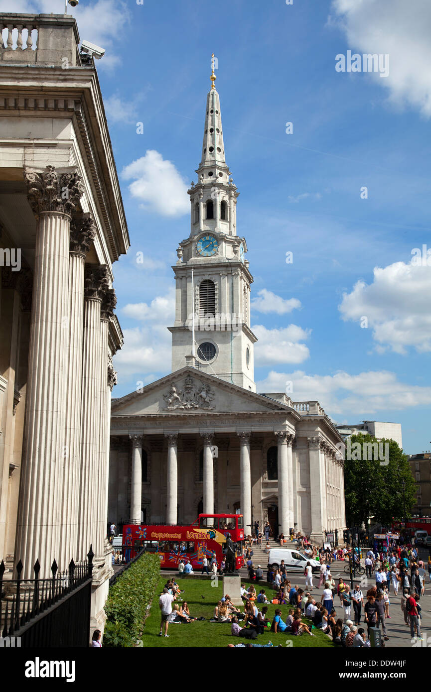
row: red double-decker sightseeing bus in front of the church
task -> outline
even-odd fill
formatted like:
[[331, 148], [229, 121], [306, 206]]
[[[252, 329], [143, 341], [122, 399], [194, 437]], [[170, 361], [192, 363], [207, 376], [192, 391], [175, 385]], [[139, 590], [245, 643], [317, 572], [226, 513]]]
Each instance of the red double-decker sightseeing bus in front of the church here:
[[236, 547], [235, 566], [244, 565], [244, 525], [242, 514], [200, 514], [189, 526], [125, 524], [123, 558], [128, 562], [137, 549], [159, 554], [160, 566], [176, 569], [180, 560], [190, 560], [193, 569], [202, 569], [204, 557], [215, 558], [220, 568], [226, 534]]

